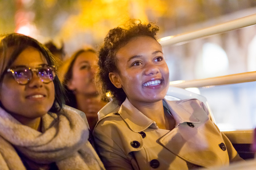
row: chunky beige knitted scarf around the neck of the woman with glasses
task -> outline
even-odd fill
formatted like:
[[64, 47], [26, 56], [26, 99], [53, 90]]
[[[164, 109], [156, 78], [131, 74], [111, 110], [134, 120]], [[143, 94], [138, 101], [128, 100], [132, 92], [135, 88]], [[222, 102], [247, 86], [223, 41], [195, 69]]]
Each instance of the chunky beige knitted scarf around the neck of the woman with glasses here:
[[26, 169], [18, 153], [35, 164], [59, 169], [105, 169], [88, 142], [89, 129], [74, 109], [65, 106], [42, 118], [42, 131], [22, 125], [0, 107], [0, 169]]

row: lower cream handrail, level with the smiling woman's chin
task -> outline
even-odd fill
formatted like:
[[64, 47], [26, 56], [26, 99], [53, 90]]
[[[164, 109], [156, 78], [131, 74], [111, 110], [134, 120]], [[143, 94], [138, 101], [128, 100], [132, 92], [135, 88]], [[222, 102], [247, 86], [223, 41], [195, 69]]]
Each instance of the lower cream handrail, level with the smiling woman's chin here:
[[193, 87], [207, 87], [207, 86], [218, 86], [225, 84], [235, 84], [243, 82], [256, 81], [256, 71], [224, 75], [220, 77], [207, 78], [207, 79], [198, 79], [191, 81], [171, 81], [171, 87], [179, 88], [193, 88]]

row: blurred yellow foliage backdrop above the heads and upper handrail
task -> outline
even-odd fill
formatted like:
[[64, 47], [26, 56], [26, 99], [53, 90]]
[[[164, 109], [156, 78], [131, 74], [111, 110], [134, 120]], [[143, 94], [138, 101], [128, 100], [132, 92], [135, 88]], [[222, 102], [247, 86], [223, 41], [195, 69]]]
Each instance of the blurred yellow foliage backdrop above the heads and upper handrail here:
[[256, 10], [255, 0], [0, 0], [0, 33], [40, 41], [97, 46], [109, 29], [130, 18], [160, 27], [159, 38], [210, 27]]

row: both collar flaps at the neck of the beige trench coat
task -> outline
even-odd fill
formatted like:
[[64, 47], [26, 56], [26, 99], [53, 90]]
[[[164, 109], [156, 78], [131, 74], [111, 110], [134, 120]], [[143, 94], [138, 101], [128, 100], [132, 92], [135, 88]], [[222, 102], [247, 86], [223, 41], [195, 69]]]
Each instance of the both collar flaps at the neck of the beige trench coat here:
[[[182, 100], [181, 100], [182, 101]], [[200, 121], [193, 116], [193, 109], [185, 109], [180, 105], [180, 101], [169, 101], [163, 99], [163, 106], [170, 111], [175, 120], [175, 128], [183, 122], [199, 123]], [[125, 99], [118, 112], [129, 128], [134, 132], [141, 132], [147, 128], [157, 129], [156, 122], [145, 116], [135, 108], [128, 98]]]

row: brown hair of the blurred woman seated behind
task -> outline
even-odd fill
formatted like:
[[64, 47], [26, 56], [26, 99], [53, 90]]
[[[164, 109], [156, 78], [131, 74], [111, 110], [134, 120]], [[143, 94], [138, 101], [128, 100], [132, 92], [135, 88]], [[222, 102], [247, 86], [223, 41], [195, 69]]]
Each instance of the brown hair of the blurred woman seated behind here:
[[74, 63], [77, 59], [77, 57], [85, 52], [92, 52], [96, 54], [96, 51], [91, 47], [86, 47], [83, 49], [77, 50], [68, 60], [63, 62], [60, 73], [61, 73], [61, 83], [63, 84], [63, 87], [65, 88], [65, 95], [66, 95], [66, 101], [65, 104], [74, 108], [77, 108], [77, 101], [76, 97], [74, 95], [74, 92], [72, 90], [69, 90], [67, 87], [67, 83], [72, 79], [73, 77], [73, 67]]

